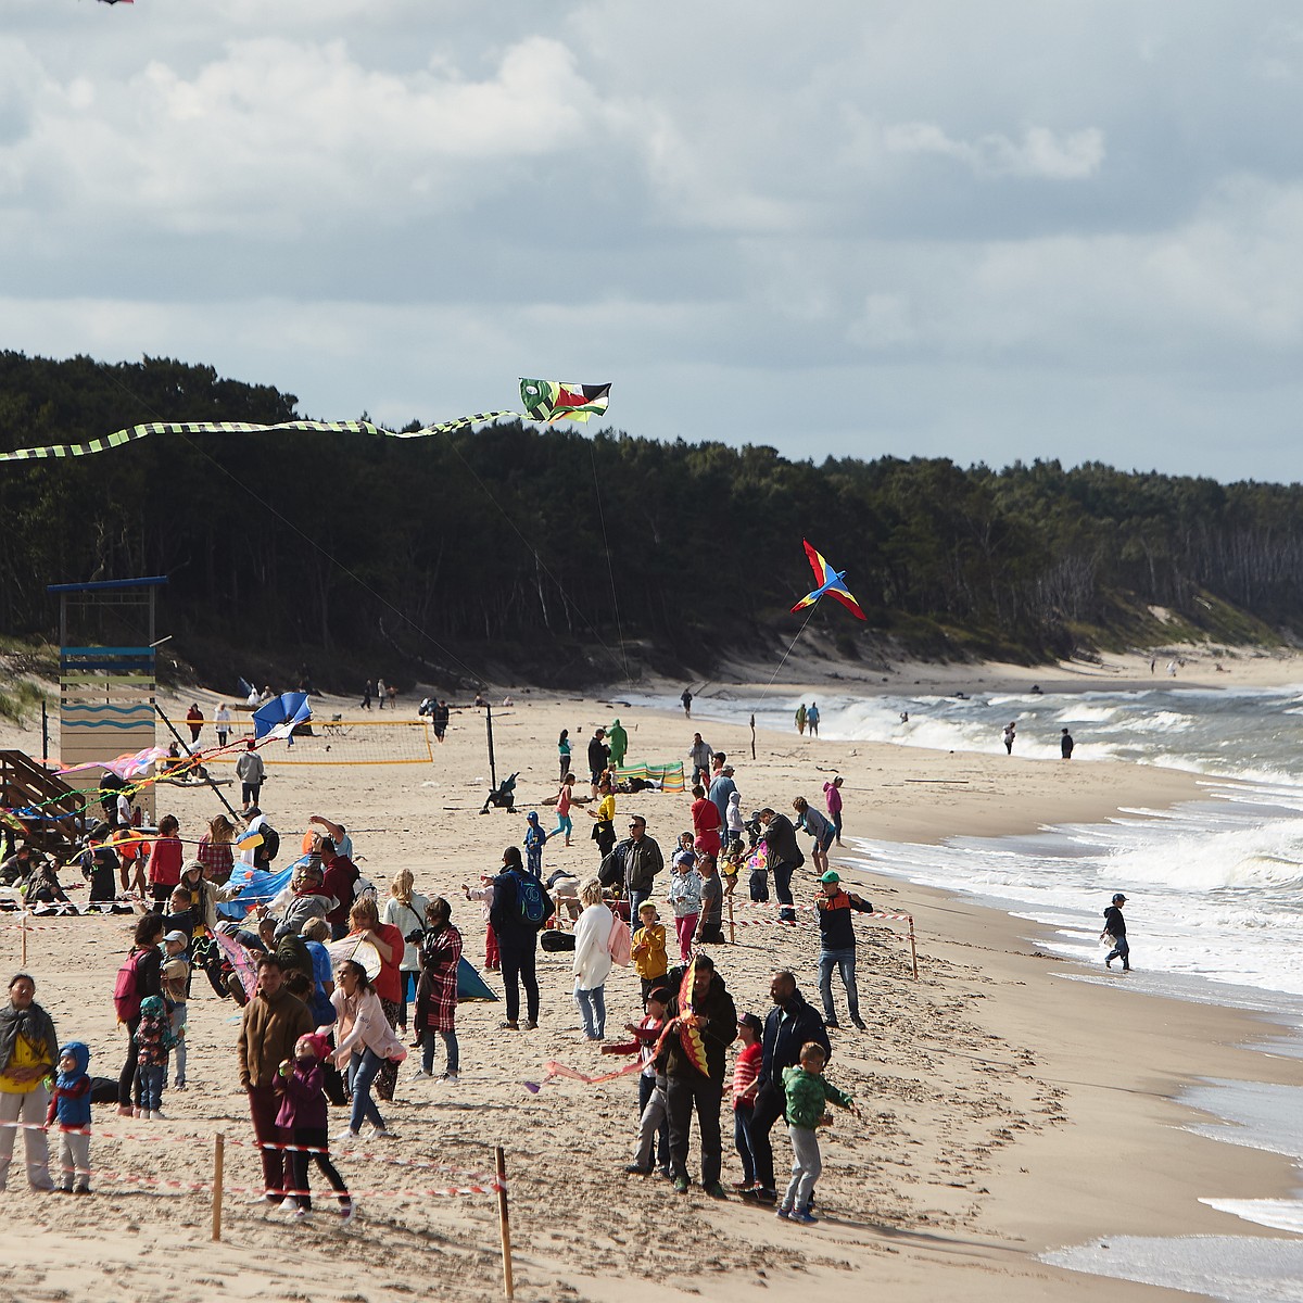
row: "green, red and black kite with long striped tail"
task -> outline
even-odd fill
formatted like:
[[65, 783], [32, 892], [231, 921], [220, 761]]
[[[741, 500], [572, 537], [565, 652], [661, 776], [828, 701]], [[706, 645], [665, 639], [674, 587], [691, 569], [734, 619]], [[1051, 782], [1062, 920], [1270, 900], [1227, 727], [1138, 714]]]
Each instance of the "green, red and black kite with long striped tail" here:
[[370, 421], [279, 421], [275, 425], [250, 425], [245, 421], [149, 421], [126, 430], [115, 430], [89, 443], [56, 443], [48, 448], [14, 448], [0, 452], [0, 461], [34, 461], [47, 457], [90, 457], [125, 443], [134, 443], [151, 434], [271, 434], [276, 430], [300, 430], [309, 434], [371, 434], [386, 439], [429, 439], [452, 434], [486, 421], [513, 416], [523, 421], [588, 421], [603, 416], [611, 392], [610, 384], [562, 384], [558, 380], [521, 380], [520, 399], [524, 412], [476, 412], [453, 421], [422, 426], [420, 430], [386, 430]]

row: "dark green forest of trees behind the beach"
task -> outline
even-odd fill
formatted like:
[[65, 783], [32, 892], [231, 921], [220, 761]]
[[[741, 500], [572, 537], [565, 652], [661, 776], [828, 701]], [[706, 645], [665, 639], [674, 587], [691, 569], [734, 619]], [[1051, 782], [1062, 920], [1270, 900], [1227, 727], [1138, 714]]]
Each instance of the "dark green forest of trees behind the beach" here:
[[[207, 366], [0, 353], [4, 448], [304, 414]], [[168, 434], [0, 465], [0, 633], [56, 640], [47, 584], [165, 575], [160, 627], [208, 674], [233, 657], [349, 688], [382, 662], [450, 685], [708, 674], [796, 636], [809, 538], [868, 614], [816, 609], [808, 636], [844, 657], [1272, 642], [1303, 629], [1300, 499], [1095, 463], [814, 464], [520, 422], [413, 440]]]

